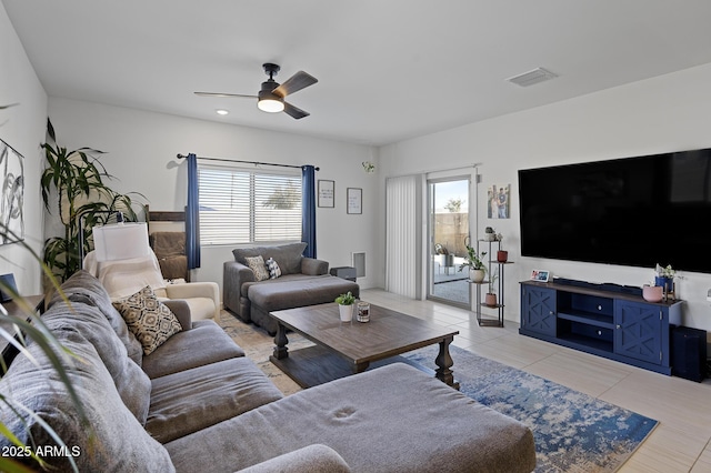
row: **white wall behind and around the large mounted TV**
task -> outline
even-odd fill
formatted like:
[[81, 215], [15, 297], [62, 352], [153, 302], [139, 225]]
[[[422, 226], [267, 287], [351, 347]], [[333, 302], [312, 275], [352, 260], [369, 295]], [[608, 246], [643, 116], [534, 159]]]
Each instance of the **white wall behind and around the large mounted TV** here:
[[[387, 175], [402, 173], [403, 169], [482, 163], [478, 191], [480, 232], [491, 225], [503, 233], [509, 259], [517, 263], [505, 269], [508, 320], [519, 320], [518, 282], [528, 279], [532, 269], [548, 269], [563, 278], [642, 285], [652, 280], [651, 268], [522, 258], [517, 171], [711, 148], [709, 83], [711, 64], [383, 147], [381, 185]], [[535, 93], [534, 87], [530, 93]], [[511, 183], [511, 219], [487, 219], [485, 190], [502, 183]], [[673, 239], [673, 229], [683, 229], [683, 222], [664, 220], [660, 227], [667, 227]], [[705, 301], [711, 274], [679, 274], [683, 279], [677, 282], [677, 293], [687, 301], [684, 325], [711, 331], [711, 304]]]

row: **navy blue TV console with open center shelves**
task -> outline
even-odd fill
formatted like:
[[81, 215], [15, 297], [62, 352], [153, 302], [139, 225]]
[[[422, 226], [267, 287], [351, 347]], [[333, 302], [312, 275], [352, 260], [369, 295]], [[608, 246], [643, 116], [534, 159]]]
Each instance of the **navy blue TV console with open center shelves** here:
[[671, 326], [680, 300], [648, 302], [641, 289], [581, 281], [521, 282], [519, 333], [671, 374]]

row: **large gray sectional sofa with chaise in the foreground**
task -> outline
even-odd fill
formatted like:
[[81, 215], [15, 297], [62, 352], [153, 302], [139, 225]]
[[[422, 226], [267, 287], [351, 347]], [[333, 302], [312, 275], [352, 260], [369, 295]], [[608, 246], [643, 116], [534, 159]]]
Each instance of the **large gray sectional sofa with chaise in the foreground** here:
[[[0, 393], [39, 413], [63, 439], [7, 405], [0, 420], [57, 471], [529, 472], [531, 431], [395, 363], [283, 397], [213, 322], [190, 322], [149, 355], [98, 280], [79, 272], [42, 320], [76, 355], [70, 378], [87, 423], [34, 342]], [[32, 441], [30, 442], [30, 439]], [[33, 442], [33, 443], [32, 443]], [[0, 436], [0, 447], [10, 447]], [[9, 450], [8, 450], [9, 451]], [[62, 456], [64, 455], [64, 456]], [[27, 456], [17, 460], [32, 463]], [[36, 466], [36, 465], [33, 465]]]

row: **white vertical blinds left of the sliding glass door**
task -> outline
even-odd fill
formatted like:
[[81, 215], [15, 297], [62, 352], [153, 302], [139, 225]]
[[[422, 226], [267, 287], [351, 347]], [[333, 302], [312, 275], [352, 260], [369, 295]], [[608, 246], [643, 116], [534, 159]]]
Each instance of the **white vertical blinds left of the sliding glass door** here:
[[385, 181], [385, 290], [418, 298], [420, 175]]

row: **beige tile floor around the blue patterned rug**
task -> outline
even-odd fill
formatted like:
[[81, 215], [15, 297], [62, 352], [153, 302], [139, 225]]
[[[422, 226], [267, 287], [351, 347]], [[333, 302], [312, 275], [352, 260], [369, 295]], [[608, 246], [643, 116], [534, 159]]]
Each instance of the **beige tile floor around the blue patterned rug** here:
[[[573, 390], [630, 409], [660, 422], [620, 472], [711, 472], [711, 380], [702, 383], [652, 373], [623, 363], [519, 335], [518, 323], [479, 326], [473, 314], [431, 301], [413, 301], [382, 290], [364, 290], [361, 298], [420, 319], [455, 326], [454, 344], [482, 356], [528, 371]], [[299, 388], [268, 361], [271, 338], [251, 325], [223, 325], [277, 385], [290, 394]], [[309, 343], [292, 341], [292, 343]], [[454, 360], [457, 372], [457, 360]]]

